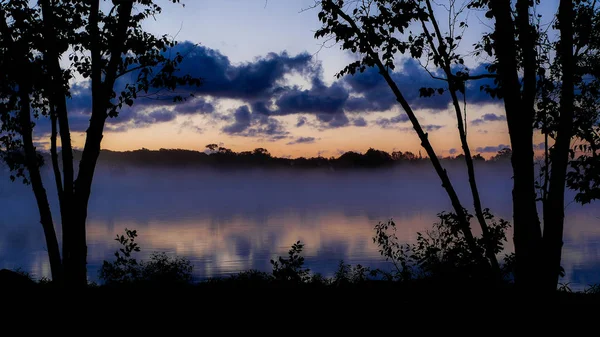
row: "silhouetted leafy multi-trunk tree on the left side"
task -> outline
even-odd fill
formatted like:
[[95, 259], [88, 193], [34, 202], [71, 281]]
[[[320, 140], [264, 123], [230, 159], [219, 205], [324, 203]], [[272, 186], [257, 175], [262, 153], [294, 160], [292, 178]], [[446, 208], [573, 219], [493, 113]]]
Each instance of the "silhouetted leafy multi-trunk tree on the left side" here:
[[[178, 3], [179, 0], [171, 2]], [[57, 260], [56, 254], [50, 253], [52, 274], [58, 280], [63, 269], [68, 284], [83, 286], [87, 284], [87, 207], [106, 120], [117, 117], [124, 106], [132, 106], [139, 96], [152, 95], [149, 91], [153, 88], [173, 92], [178, 86], [199, 85], [200, 80], [177, 74], [183, 55], [176, 53], [169, 58], [166, 54], [175, 46], [174, 41], [166, 35], [156, 37], [142, 29], [146, 18], [161, 12], [151, 0], [113, 1], [108, 12], [100, 9], [99, 0], [39, 0], [37, 6], [29, 1], [11, 1], [0, 6], [2, 67], [9, 67], [9, 61], [18, 57], [24, 60], [21, 64], [39, 64], [32, 70], [34, 78], [39, 77], [34, 83], [19, 83], [24, 80], [19, 80], [22, 76], [14, 72], [5, 75], [12, 84], [2, 87], [4, 102], [11, 103], [0, 111], [3, 152], [9, 156], [21, 151], [29, 153], [25, 163], [15, 162], [12, 168], [21, 176], [25, 176], [23, 165], [27, 169], [46, 240], [56, 241], [53, 231], [46, 230], [52, 226], [52, 217], [43, 183], [37, 178], [37, 163], [31, 160], [30, 128], [11, 123], [16, 115], [25, 123], [31, 110], [34, 114], [49, 115], [52, 162], [63, 228], [62, 264], [57, 266], [60, 258]], [[11, 44], [21, 47], [11, 48]], [[63, 67], [60, 59], [68, 51], [70, 63]], [[66, 98], [71, 94], [70, 80], [76, 75], [91, 82], [92, 106], [75, 178]], [[128, 78], [131, 83], [117, 88], [118, 79], [126, 82]], [[173, 101], [184, 99], [176, 93], [168, 97]], [[19, 108], [17, 114], [16, 108]], [[57, 124], [62, 146], [62, 172], [56, 151]]]

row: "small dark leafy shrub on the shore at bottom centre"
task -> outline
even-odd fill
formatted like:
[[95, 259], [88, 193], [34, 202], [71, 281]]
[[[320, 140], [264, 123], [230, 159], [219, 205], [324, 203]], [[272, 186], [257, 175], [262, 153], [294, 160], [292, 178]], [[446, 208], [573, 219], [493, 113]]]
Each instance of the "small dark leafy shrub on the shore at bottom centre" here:
[[276, 281], [303, 283], [310, 279], [310, 269], [304, 268], [304, 257], [300, 255], [304, 244], [297, 241], [288, 251], [288, 257], [271, 260], [273, 277]]

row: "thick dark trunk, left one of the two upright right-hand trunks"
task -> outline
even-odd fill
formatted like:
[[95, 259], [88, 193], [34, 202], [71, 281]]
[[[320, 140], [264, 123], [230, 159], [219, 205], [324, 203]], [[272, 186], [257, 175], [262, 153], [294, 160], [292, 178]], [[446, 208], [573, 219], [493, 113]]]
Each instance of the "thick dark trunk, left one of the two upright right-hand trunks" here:
[[[540, 274], [542, 237], [536, 206], [533, 162], [535, 50], [528, 15], [529, 1], [517, 1], [517, 22], [513, 22], [509, 1], [491, 0], [490, 7], [496, 19], [494, 50], [498, 59], [498, 76], [512, 145], [515, 281], [525, 289], [534, 289], [538, 285]], [[524, 59], [523, 97], [518, 74], [515, 24], [519, 26]]]

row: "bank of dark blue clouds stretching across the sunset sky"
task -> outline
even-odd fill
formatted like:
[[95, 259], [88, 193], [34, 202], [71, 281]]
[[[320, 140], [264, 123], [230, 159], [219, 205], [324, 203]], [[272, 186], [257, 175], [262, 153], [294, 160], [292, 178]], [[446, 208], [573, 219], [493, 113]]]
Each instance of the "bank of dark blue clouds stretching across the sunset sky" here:
[[[164, 123], [174, 120], [177, 115], [211, 114], [215, 121], [231, 121], [223, 128], [223, 131], [229, 134], [282, 136], [285, 134], [285, 131], [282, 131], [283, 126], [273, 119], [273, 116], [313, 114], [317, 122], [311, 125], [320, 129], [366, 126], [364, 118], [348, 118], [347, 113], [385, 111], [397, 106], [395, 96], [375, 68], [368, 68], [363, 73], [345, 76], [331, 85], [326, 85], [322, 80], [320, 65], [313, 62], [308, 53], [269, 53], [250, 62], [234, 64], [219, 50], [191, 42], [180, 43], [167, 53], [173, 56], [176, 52], [184, 56], [178, 74], [189, 74], [203, 79], [202, 86], [178, 88], [177, 94], [186, 96], [194, 93], [196, 97], [179, 103], [172, 102], [172, 97], [168, 96], [162, 97], [163, 99], [138, 98], [133, 107], [123, 108], [118, 118], [107, 120], [107, 130], [125, 131], [152, 123]], [[478, 66], [471, 74], [487, 73], [484, 67], [485, 65]], [[285, 77], [290, 74], [300, 74], [310, 79], [310, 87], [286, 85]], [[127, 83], [135, 83], [136, 76], [137, 74], [130, 73], [120, 78], [115, 85], [116, 91], [122, 90]], [[396, 71], [391, 72], [391, 76], [412, 108], [427, 108], [433, 111], [447, 109], [447, 93], [428, 98], [419, 97], [419, 88], [439, 88], [444, 87], [445, 83], [434, 80], [415, 60], [403, 61]], [[482, 84], [489, 84], [491, 81], [485, 79], [469, 82], [467, 100], [471, 103], [492, 101], [479, 89]], [[220, 99], [241, 100], [247, 110], [237, 109], [233, 116], [224, 115], [216, 108]], [[89, 83], [80, 83], [72, 87], [72, 97], [68, 99], [68, 106], [72, 131], [85, 131], [89, 125], [91, 109]], [[258, 115], [267, 118], [261, 119]], [[488, 115], [493, 114], [484, 115], [481, 121], [478, 119], [472, 123], [479, 125], [492, 121], [486, 119]], [[375, 123], [380, 127], [389, 128], [407, 120], [407, 116], [402, 114], [389, 119], [381, 118]], [[306, 117], [299, 117], [296, 127], [306, 124]], [[440, 127], [428, 126], [430, 131]], [[47, 123], [43, 130], [46, 133], [49, 131]]]

